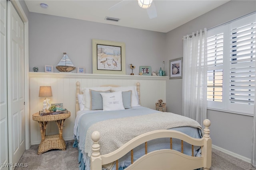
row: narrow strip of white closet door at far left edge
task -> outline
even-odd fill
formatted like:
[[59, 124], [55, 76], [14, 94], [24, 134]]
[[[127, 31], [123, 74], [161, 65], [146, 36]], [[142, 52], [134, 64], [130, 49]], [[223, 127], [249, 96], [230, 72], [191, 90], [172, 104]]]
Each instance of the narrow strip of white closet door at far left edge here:
[[[7, 1], [0, 0], [0, 164], [8, 161], [7, 113]], [[0, 166], [0, 170], [7, 170]]]

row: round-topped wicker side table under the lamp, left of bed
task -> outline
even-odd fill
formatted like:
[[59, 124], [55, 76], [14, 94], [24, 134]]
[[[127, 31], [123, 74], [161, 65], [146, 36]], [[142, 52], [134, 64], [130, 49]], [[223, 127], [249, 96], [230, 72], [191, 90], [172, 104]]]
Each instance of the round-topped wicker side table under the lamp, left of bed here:
[[[66, 150], [66, 143], [62, 137], [63, 124], [66, 118], [70, 117], [70, 111], [68, 113], [62, 113], [57, 115], [44, 115], [40, 116], [39, 113], [34, 113], [32, 119], [38, 121], [40, 126], [40, 132], [42, 141], [39, 144], [37, 154], [42, 154], [52, 149]], [[59, 128], [58, 135], [45, 135], [46, 125], [48, 121], [55, 121]]]

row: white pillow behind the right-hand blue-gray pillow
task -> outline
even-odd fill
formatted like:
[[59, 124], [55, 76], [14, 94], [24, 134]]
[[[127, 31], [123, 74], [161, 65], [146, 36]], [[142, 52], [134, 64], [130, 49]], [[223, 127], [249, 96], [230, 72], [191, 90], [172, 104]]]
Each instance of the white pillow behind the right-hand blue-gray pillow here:
[[111, 87], [111, 90], [113, 90], [113, 91], [122, 91], [122, 92], [132, 90], [132, 106], [140, 106], [136, 86]]

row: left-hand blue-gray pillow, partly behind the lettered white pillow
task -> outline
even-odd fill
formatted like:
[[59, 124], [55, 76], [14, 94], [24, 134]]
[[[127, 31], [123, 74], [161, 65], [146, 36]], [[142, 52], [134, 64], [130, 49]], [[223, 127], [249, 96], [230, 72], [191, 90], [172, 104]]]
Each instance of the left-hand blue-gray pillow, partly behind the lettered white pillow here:
[[90, 110], [102, 110], [103, 109], [102, 96], [100, 93], [110, 93], [110, 90], [95, 91], [95, 90], [90, 89], [90, 96], [91, 96]]

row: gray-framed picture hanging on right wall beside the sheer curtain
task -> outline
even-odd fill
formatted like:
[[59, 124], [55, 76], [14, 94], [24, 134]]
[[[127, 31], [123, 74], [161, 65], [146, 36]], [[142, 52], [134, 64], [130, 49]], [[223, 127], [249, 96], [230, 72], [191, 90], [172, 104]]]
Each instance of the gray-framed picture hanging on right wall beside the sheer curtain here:
[[169, 79], [182, 78], [183, 58], [169, 60]]

